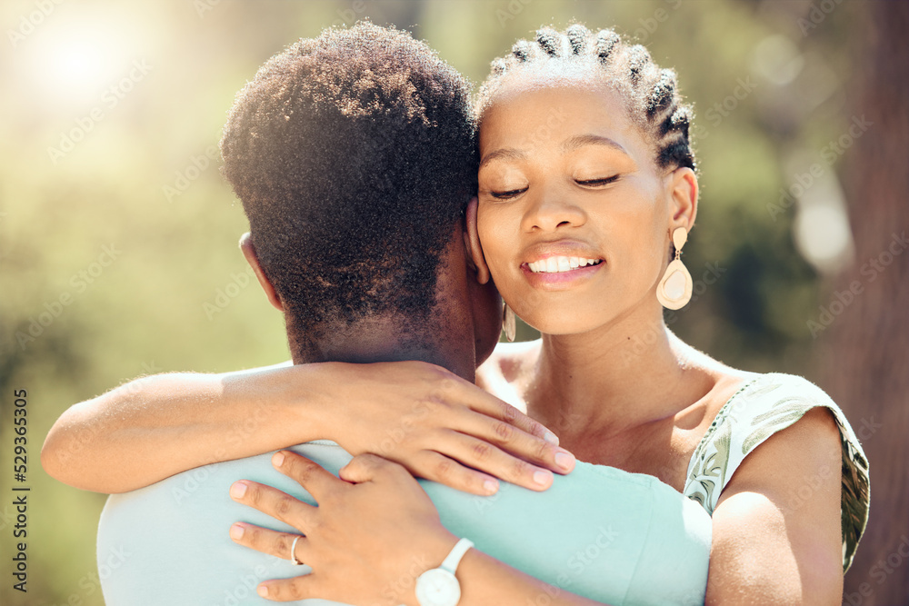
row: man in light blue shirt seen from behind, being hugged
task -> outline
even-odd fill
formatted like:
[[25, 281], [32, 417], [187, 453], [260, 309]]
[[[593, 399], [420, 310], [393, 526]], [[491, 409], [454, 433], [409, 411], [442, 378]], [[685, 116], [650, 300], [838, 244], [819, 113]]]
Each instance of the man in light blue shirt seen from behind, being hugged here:
[[[405, 33], [328, 30], [259, 70], [237, 97], [222, 152], [250, 221], [244, 253], [285, 313], [295, 363], [416, 359], [474, 379], [499, 302], [476, 283], [464, 247], [476, 158], [454, 69]], [[351, 458], [333, 442], [293, 450], [334, 473]], [[232, 502], [235, 480], [314, 502], [270, 456], [112, 496], [98, 533], [108, 606], [265, 603], [258, 582], [305, 573], [228, 535], [236, 521], [292, 531]], [[710, 520], [654, 478], [578, 463], [540, 493], [423, 485], [450, 531], [568, 591], [645, 602], [659, 581], [674, 601], [704, 600]], [[417, 561], [414, 574], [438, 565]]]

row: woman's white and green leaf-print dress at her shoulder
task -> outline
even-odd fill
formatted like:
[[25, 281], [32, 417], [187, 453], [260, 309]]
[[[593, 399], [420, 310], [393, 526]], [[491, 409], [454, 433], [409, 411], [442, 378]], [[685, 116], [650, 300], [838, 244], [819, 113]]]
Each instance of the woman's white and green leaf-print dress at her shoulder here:
[[[824, 406], [833, 412], [843, 446], [841, 512], [845, 572], [868, 522], [868, 461], [843, 411], [821, 388], [802, 377], [771, 373], [746, 381], [717, 412], [694, 450], [683, 492], [712, 515], [720, 493], [748, 453], [815, 406]], [[798, 507], [813, 490], [809, 479], [798, 492], [790, 495], [790, 502], [784, 503], [784, 507]]]

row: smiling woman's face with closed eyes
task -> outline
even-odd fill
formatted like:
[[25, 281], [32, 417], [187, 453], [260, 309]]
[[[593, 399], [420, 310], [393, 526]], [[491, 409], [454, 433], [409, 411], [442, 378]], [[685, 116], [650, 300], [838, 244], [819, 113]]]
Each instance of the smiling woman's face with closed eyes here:
[[671, 228], [687, 223], [673, 174], [657, 169], [618, 94], [577, 80], [505, 84], [484, 114], [480, 155], [480, 243], [525, 322], [568, 334], [660, 313]]

